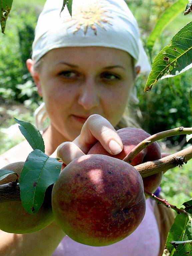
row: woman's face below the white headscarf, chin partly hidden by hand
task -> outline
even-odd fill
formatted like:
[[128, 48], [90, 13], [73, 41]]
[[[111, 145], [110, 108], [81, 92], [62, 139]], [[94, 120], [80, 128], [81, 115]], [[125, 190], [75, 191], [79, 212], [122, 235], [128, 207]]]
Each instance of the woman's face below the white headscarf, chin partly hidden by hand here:
[[117, 125], [133, 82], [128, 53], [106, 47], [67, 47], [51, 50], [43, 57], [38, 92], [52, 128], [71, 141], [92, 114]]

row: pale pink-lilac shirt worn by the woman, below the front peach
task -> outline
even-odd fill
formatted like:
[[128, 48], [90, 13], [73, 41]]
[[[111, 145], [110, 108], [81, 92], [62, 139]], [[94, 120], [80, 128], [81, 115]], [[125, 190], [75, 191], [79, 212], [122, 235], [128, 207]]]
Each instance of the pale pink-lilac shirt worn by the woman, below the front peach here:
[[141, 224], [120, 242], [92, 247], [65, 236], [52, 256], [158, 256], [160, 237], [153, 205], [152, 199], [146, 200], [146, 213]]

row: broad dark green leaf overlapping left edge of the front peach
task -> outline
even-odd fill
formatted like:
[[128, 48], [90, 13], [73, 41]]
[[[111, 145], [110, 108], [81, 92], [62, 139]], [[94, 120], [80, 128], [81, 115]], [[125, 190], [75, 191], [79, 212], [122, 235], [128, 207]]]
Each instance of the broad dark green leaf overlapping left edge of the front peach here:
[[41, 207], [46, 189], [57, 181], [62, 163], [36, 149], [32, 151], [22, 169], [19, 186], [22, 205], [30, 214]]

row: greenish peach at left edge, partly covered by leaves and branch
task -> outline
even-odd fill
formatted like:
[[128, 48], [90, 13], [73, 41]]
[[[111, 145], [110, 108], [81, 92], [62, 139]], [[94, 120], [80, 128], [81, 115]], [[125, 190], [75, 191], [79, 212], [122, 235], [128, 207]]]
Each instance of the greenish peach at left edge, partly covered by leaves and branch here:
[[[24, 162], [16, 162], [2, 169], [13, 170], [20, 176], [23, 165]], [[0, 185], [12, 182], [15, 178], [16, 176], [11, 174], [0, 181]], [[41, 208], [36, 214], [32, 215], [24, 209], [19, 190], [15, 189], [15, 198], [0, 201], [0, 229], [8, 233], [24, 234], [39, 231], [51, 224], [54, 221], [51, 207], [51, 191], [51, 187], [46, 190]]]

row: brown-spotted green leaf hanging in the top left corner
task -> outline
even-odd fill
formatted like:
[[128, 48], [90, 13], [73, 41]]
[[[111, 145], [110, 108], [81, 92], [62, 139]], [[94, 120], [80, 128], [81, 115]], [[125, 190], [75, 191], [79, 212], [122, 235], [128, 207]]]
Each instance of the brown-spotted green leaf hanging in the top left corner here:
[[4, 33], [6, 21], [11, 10], [13, 0], [0, 0], [0, 25], [1, 31]]

